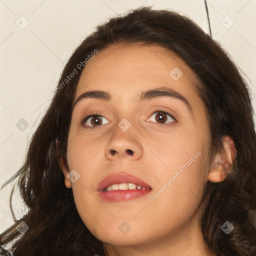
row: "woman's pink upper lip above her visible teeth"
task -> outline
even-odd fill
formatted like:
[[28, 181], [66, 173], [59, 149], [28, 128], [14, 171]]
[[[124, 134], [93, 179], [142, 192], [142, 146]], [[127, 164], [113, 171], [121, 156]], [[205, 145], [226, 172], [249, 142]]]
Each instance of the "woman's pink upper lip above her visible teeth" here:
[[106, 189], [112, 184], [120, 184], [120, 183], [134, 183], [141, 187], [151, 189], [150, 185], [148, 185], [146, 182], [144, 182], [140, 178], [135, 177], [129, 173], [119, 172], [119, 173], [113, 173], [113, 174], [110, 174], [109, 176], [104, 177], [98, 183], [98, 190], [102, 191], [103, 189]]

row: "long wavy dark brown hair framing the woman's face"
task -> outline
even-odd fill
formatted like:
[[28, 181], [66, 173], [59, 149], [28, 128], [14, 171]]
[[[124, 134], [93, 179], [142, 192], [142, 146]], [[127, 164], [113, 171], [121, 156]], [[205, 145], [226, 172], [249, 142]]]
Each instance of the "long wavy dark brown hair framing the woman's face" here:
[[[256, 208], [256, 137], [248, 86], [220, 44], [192, 20], [150, 7], [97, 26], [69, 58], [59, 84], [74, 68], [77, 73], [56, 90], [31, 138], [25, 163], [7, 182], [17, 178], [28, 212], [16, 222], [23, 220], [29, 229], [20, 235], [14, 224], [4, 231], [0, 236], [3, 255], [105, 255], [101, 241], [80, 219], [72, 190], [64, 186], [56, 139], [58, 154], [66, 156], [71, 106], [87, 55], [114, 43], [136, 42], [171, 50], [197, 75], [202, 85], [198, 95], [208, 116], [211, 156], [222, 150], [223, 135], [235, 143], [236, 162], [227, 178], [205, 185], [201, 229], [206, 244], [215, 255], [256, 255], [256, 229], [246, 221], [246, 210]], [[79, 63], [83, 63], [80, 68]], [[225, 221], [234, 226], [229, 234], [220, 228]], [[11, 249], [6, 249], [8, 243]]]

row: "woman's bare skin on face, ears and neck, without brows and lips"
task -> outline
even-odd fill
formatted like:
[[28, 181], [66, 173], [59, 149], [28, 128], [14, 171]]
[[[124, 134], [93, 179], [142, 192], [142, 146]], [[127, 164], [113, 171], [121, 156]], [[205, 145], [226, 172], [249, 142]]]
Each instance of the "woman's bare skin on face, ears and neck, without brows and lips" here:
[[[169, 75], [173, 67], [182, 71], [176, 81]], [[97, 53], [81, 74], [74, 101], [90, 90], [106, 91], [111, 100], [86, 98], [75, 105], [67, 141], [68, 168], [63, 159], [60, 165], [65, 175], [72, 169], [79, 173], [74, 183], [66, 177], [65, 185], [73, 190], [82, 221], [109, 255], [211, 255], [202, 238], [198, 206], [207, 180], [224, 180], [233, 155], [223, 137], [226, 151], [207, 164], [209, 127], [195, 81], [193, 71], [177, 55], [161, 46], [141, 44], [111, 45]], [[192, 114], [175, 98], [140, 101], [141, 91], [156, 87], [182, 94]], [[155, 117], [157, 110], [176, 120], [166, 115], [163, 126]], [[91, 119], [80, 124], [89, 111], [101, 116], [103, 124], [92, 126]], [[117, 125], [123, 118], [131, 123], [127, 131]], [[151, 202], [149, 196], [197, 151], [200, 156]], [[133, 200], [102, 200], [99, 181], [118, 172], [139, 177], [152, 190]], [[123, 221], [131, 227], [125, 234], [118, 228]]]

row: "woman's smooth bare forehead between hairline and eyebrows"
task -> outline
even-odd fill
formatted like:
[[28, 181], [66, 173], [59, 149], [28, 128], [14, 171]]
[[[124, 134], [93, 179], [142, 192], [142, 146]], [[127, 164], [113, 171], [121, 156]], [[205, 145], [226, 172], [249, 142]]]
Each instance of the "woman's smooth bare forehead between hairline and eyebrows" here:
[[[158, 45], [114, 44], [87, 62], [75, 98], [91, 89], [133, 91], [169, 86], [195, 91], [195, 73], [176, 54]], [[117, 92], [117, 91], [114, 91]]]

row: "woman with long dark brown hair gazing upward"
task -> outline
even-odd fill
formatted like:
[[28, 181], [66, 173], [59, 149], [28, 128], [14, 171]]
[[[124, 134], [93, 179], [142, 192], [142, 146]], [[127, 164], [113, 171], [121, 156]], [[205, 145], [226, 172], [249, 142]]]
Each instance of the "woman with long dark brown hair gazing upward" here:
[[254, 145], [218, 43], [167, 10], [111, 18], [73, 52], [12, 178], [29, 210], [2, 253], [256, 255]]

